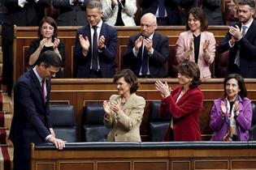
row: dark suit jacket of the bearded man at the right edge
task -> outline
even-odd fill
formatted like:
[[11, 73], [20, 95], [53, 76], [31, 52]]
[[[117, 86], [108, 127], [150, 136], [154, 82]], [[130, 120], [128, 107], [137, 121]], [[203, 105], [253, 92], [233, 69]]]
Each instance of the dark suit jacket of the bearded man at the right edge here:
[[[241, 28], [241, 23], [232, 23]], [[219, 44], [219, 53], [229, 50], [227, 72], [232, 73], [232, 67], [236, 59], [237, 49], [240, 46], [240, 74], [244, 78], [256, 78], [256, 21], [248, 28], [245, 36], [230, 48], [228, 40], [231, 39], [231, 34], [228, 32]]]

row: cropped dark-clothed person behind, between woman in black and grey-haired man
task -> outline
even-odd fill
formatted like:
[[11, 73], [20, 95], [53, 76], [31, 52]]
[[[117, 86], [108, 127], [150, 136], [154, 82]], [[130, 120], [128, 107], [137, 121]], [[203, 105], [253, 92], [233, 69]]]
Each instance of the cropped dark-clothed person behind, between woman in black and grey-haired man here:
[[59, 26], [85, 26], [87, 23], [85, 7], [88, 0], [52, 0], [54, 8], [59, 9]]

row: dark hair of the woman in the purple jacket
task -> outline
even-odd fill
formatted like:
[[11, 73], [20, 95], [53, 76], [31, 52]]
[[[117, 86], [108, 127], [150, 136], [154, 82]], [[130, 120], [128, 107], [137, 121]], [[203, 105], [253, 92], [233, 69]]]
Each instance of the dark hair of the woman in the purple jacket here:
[[238, 92], [239, 96], [241, 96], [242, 99], [244, 99], [247, 96], [247, 90], [245, 87], [245, 81], [243, 79], [243, 77], [241, 76], [241, 74], [228, 74], [228, 76], [224, 79], [224, 95], [227, 96], [227, 92], [226, 92], [226, 84], [228, 82], [229, 79], [236, 79], [237, 83], [238, 83], [238, 87], [240, 89], [240, 91]]

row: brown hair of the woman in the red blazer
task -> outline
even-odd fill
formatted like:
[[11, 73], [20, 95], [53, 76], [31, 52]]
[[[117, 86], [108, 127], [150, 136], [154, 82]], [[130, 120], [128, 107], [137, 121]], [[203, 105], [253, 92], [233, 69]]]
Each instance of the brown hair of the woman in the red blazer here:
[[190, 88], [197, 87], [201, 84], [200, 70], [195, 62], [181, 62], [178, 66], [178, 71], [180, 74], [192, 79], [191, 83], [189, 84]]

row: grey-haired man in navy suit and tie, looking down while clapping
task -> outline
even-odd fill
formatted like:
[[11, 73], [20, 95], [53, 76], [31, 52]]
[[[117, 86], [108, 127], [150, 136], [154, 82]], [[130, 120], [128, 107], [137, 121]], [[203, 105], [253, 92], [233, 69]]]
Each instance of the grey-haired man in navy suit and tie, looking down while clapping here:
[[89, 24], [76, 32], [76, 77], [111, 78], [116, 69], [117, 31], [102, 22], [100, 1], [89, 1], [86, 13]]

